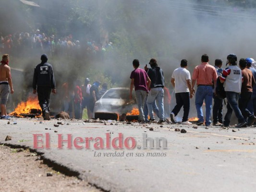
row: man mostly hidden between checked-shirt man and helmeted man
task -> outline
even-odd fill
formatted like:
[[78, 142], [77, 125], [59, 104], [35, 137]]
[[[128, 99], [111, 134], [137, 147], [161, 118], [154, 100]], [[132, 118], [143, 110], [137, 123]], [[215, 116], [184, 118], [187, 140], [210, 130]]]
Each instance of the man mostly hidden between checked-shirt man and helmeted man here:
[[[216, 59], [214, 67], [216, 69], [218, 77], [223, 72], [223, 69], [221, 69], [221, 66], [222, 66], [222, 60]], [[212, 109], [213, 126], [220, 126], [223, 124], [223, 120], [222, 120], [223, 99], [219, 98], [219, 96], [217, 96], [216, 93], [213, 94], [213, 99], [214, 99], [214, 104]]]

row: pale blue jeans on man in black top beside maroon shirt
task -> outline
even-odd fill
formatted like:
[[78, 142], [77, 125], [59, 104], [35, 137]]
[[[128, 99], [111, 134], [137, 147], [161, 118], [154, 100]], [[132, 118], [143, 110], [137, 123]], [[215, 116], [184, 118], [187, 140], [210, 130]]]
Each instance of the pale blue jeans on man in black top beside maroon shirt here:
[[146, 105], [150, 119], [155, 119], [152, 106], [155, 100], [158, 103], [159, 120], [164, 120], [164, 90], [162, 87], [151, 88], [147, 96]]

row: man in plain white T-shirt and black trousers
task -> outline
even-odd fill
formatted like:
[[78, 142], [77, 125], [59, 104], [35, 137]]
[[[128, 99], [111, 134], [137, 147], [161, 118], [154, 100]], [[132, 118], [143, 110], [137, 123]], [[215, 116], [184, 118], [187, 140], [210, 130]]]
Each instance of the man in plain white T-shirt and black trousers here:
[[177, 116], [183, 106], [184, 114], [182, 124], [190, 125], [192, 123], [188, 121], [189, 98], [193, 97], [193, 92], [191, 90], [190, 72], [186, 68], [187, 60], [182, 60], [181, 67], [175, 69], [171, 75], [171, 84], [175, 88], [176, 106], [172, 109], [170, 117], [171, 122], [176, 123], [175, 116]]

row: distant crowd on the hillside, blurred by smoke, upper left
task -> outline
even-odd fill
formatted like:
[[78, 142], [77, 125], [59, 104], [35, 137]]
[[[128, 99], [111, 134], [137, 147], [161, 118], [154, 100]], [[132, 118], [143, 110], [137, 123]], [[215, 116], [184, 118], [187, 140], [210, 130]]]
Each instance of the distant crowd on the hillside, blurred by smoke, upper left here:
[[105, 42], [104, 45], [93, 40], [86, 40], [83, 43], [74, 39], [72, 35], [57, 37], [41, 33], [39, 29], [35, 32], [22, 32], [13, 35], [2, 36], [0, 33], [0, 53], [15, 54], [17, 56], [30, 55], [31, 51], [52, 55], [72, 55], [86, 50], [88, 53], [100, 55], [112, 49], [112, 42]]

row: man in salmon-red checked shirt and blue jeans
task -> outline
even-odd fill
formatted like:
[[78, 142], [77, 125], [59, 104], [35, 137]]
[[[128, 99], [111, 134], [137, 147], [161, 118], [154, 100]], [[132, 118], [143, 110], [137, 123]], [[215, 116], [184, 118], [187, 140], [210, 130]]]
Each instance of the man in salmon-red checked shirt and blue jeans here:
[[[197, 84], [195, 94], [195, 107], [197, 111], [198, 121], [196, 125], [204, 124], [204, 115], [202, 105], [205, 100], [206, 104], [206, 126], [211, 125], [211, 108], [212, 108], [212, 96], [213, 96], [213, 85], [216, 85], [217, 72], [215, 67], [209, 65], [209, 58], [207, 54], [202, 55], [201, 64], [196, 66], [192, 76], [192, 91], [195, 92], [194, 86], [195, 81]], [[215, 86], [214, 86], [215, 87]]]

